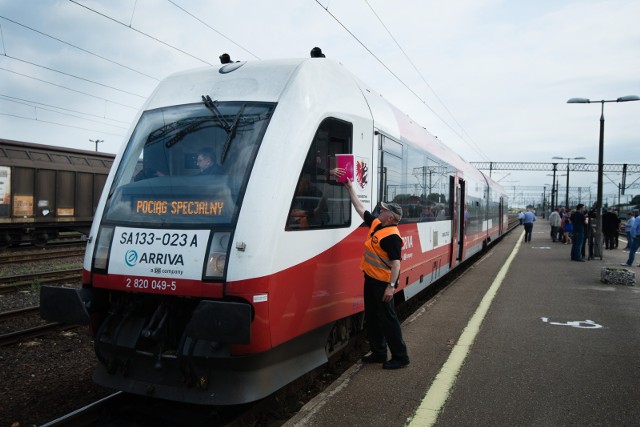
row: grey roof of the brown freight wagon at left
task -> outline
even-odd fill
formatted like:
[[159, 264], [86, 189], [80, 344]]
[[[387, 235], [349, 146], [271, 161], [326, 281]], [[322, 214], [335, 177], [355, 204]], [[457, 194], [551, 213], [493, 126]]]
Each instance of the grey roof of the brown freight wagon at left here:
[[115, 155], [0, 139], [0, 166], [109, 173]]

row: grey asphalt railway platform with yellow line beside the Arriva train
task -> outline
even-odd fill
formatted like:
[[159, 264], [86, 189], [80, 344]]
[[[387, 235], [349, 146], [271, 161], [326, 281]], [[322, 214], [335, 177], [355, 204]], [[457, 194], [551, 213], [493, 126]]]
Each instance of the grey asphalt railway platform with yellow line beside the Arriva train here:
[[[403, 323], [411, 364], [356, 364], [286, 426], [637, 426], [640, 267], [572, 262], [538, 218], [516, 228]], [[636, 257], [636, 263], [639, 258]]]

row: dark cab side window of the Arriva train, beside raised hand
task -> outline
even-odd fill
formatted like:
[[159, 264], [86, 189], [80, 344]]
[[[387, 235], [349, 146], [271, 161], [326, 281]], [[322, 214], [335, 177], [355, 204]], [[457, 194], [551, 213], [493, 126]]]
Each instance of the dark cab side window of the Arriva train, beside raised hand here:
[[335, 118], [325, 119], [307, 152], [286, 230], [346, 227], [351, 223], [351, 202], [344, 185], [330, 176], [336, 154], [351, 154], [353, 126]]

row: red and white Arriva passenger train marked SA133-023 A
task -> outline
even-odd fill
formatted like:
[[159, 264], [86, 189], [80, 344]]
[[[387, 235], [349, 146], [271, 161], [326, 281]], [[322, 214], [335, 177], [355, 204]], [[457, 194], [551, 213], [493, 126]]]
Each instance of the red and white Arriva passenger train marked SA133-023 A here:
[[506, 231], [503, 189], [326, 58], [163, 80], [118, 154], [83, 289], [42, 316], [90, 325], [99, 384], [198, 404], [267, 396], [362, 329], [363, 204], [403, 207], [398, 303]]

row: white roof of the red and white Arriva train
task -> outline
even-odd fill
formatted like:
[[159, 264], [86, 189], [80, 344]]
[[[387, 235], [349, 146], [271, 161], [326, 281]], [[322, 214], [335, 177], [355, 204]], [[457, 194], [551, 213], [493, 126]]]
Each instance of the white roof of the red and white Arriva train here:
[[[276, 103], [286, 96], [288, 89], [295, 85], [294, 82], [298, 83], [297, 87], [305, 87], [308, 91], [341, 91], [346, 92], [347, 96], [364, 97], [376, 130], [398, 141], [423, 148], [467, 177], [486, 180], [500, 189], [499, 184], [360, 81], [342, 64], [331, 59], [236, 62], [175, 73], [158, 85], [143, 110], [198, 102], [205, 94], [214, 101]], [[339, 88], [336, 82], [339, 82]]]

